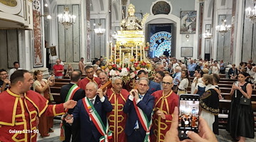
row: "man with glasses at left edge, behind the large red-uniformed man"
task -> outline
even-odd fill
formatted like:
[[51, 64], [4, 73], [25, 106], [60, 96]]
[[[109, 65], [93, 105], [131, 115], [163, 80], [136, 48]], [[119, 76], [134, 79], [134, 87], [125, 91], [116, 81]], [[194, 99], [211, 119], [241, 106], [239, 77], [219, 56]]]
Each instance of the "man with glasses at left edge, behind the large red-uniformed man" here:
[[4, 92], [10, 87], [10, 80], [8, 79], [8, 73], [6, 70], [0, 70], [0, 92]]

